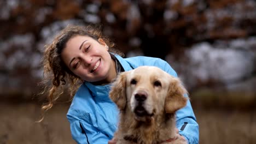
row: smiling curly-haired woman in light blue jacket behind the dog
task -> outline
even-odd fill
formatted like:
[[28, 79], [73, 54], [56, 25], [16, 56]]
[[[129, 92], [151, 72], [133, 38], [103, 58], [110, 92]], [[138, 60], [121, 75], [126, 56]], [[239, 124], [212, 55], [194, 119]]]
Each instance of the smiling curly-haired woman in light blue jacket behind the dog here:
[[[53, 43], [45, 46], [44, 79], [52, 85], [45, 91], [49, 103], [43, 105], [42, 110], [49, 110], [63, 92], [63, 86], [68, 85], [71, 95], [73, 92], [75, 95], [67, 118], [77, 143], [115, 142], [118, 109], [108, 92], [110, 82], [118, 73], [141, 65], [154, 65], [177, 76], [170, 65], [159, 58], [122, 58], [120, 53], [112, 51], [113, 46], [101, 31], [91, 26], [68, 26]], [[199, 127], [189, 100], [176, 114], [177, 139], [198, 143]]]

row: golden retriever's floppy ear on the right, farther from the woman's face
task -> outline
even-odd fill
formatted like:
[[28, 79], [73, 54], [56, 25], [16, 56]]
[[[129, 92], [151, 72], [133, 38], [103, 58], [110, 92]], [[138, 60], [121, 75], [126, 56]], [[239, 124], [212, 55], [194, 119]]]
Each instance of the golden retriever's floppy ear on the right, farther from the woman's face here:
[[165, 99], [166, 113], [174, 113], [187, 105], [187, 98], [184, 94], [188, 93], [182, 86], [181, 81], [176, 77], [171, 77], [171, 82]]

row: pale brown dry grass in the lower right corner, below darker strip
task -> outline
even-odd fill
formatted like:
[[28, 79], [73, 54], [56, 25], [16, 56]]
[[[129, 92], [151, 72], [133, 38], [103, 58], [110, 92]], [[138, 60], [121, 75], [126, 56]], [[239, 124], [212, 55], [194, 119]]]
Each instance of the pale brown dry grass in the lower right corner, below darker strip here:
[[195, 109], [200, 143], [256, 143], [256, 111]]

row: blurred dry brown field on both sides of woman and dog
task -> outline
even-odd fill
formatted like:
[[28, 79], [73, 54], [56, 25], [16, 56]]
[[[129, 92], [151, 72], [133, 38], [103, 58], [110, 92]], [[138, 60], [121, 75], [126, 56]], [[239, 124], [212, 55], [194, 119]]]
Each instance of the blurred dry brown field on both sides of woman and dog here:
[[[33, 103], [0, 103], [0, 143], [75, 143], [66, 119], [68, 105], [56, 105], [41, 123]], [[195, 106], [200, 143], [256, 143], [256, 111]]]

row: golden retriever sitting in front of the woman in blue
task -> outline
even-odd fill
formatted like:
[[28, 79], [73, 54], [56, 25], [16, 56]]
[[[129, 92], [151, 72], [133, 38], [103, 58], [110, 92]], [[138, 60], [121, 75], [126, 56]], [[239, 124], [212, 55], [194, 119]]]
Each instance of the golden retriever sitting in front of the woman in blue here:
[[181, 81], [153, 66], [120, 73], [110, 99], [120, 110], [117, 143], [184, 143], [174, 139], [175, 112], [187, 104]]

